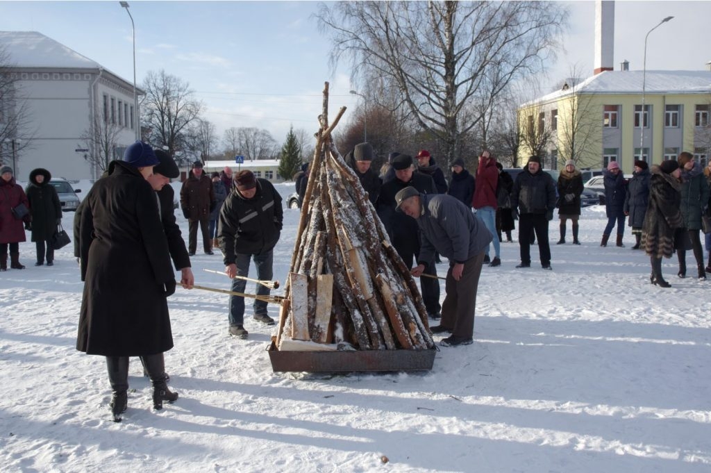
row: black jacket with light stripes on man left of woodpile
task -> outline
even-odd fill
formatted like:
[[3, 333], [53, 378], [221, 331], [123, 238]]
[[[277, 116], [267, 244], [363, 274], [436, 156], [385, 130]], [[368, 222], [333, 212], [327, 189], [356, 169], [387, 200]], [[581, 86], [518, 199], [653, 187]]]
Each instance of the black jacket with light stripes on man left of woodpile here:
[[220, 209], [218, 240], [226, 265], [235, 255], [264, 255], [274, 249], [282, 232], [282, 196], [267, 179], [257, 178], [257, 193], [244, 198], [236, 187]]

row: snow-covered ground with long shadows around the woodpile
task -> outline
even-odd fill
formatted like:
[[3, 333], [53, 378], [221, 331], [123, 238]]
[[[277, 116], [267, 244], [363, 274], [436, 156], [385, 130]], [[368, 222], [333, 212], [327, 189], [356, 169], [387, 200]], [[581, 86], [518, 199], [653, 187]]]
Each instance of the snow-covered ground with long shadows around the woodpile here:
[[[285, 198], [293, 187], [277, 188]], [[298, 215], [284, 211], [281, 282]], [[134, 359], [121, 423], [104, 358], [74, 348], [82, 282], [71, 246], [34, 267], [23, 243], [27, 269], [0, 273], [1, 469], [708, 472], [711, 281], [680, 280], [665, 260], [673, 287], [650, 285], [629, 231], [628, 248], [599, 247], [604, 223], [604, 208], [584, 209], [582, 246], [553, 244], [552, 272], [536, 264], [538, 247], [533, 267], [516, 270], [518, 244], [503, 243], [503, 265], [483, 269], [474, 344], [442, 347], [424, 373], [273, 373], [271, 327], [247, 318], [250, 338], [231, 339], [226, 296], [178, 289], [166, 370], [180, 399], [152, 410]], [[229, 287], [204, 268], [222, 270], [220, 256], [196, 255], [193, 270], [198, 284]]]

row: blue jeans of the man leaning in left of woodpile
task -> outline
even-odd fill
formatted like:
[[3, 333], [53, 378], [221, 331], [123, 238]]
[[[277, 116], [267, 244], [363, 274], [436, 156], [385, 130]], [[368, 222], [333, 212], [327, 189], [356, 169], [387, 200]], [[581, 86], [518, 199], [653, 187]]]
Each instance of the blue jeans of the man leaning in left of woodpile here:
[[[272, 262], [274, 260], [274, 251], [270, 250], [269, 253], [264, 253], [263, 255], [250, 255], [245, 253], [237, 253], [235, 255], [235, 265], [237, 265], [237, 276], [248, 276], [250, 274], [250, 258], [255, 260], [255, 266], [257, 267], [257, 279], [258, 280], [272, 280]], [[271, 291], [269, 287], [257, 285], [257, 295], [268, 296]], [[234, 292], [245, 292], [245, 287], [247, 287], [247, 281], [234, 279], [232, 280], [232, 291]], [[252, 305], [254, 308], [254, 314], [264, 314], [267, 315], [267, 302], [255, 299], [255, 303]], [[230, 296], [230, 325], [242, 325], [245, 322], [245, 298], [242, 296]]]

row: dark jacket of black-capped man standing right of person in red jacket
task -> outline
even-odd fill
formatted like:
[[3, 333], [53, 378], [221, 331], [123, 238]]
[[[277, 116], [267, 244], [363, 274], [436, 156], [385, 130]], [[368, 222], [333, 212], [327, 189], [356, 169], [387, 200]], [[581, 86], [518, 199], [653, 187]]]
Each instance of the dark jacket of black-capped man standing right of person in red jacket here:
[[518, 173], [511, 191], [511, 208], [518, 208], [518, 212], [542, 214], [553, 216], [555, 208], [555, 182], [547, 172], [538, 169], [531, 174], [528, 166]]

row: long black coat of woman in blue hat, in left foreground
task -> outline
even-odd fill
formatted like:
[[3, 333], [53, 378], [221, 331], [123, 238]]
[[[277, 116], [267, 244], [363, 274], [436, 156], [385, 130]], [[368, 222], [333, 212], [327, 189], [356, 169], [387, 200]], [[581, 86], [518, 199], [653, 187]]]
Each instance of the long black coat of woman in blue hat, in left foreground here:
[[80, 217], [77, 350], [103, 356], [159, 354], [173, 347], [166, 297], [175, 291], [156, 193], [137, 169], [114, 161]]

